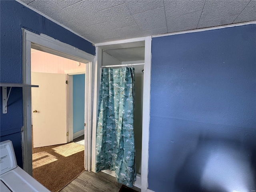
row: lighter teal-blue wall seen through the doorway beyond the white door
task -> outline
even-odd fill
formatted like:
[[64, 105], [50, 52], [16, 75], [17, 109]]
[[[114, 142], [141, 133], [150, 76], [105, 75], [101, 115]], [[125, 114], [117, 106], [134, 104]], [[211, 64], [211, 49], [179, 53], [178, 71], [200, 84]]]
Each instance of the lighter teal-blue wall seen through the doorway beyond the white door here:
[[84, 130], [85, 74], [73, 75], [73, 133]]

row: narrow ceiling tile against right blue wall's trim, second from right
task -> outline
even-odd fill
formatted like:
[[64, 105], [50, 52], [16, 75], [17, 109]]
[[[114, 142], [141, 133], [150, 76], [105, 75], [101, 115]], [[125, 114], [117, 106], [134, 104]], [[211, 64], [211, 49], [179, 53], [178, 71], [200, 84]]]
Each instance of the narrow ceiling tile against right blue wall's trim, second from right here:
[[227, 17], [215, 18], [215, 19], [210, 19], [210, 20], [200, 20], [200, 22], [198, 24], [198, 29], [232, 24], [234, 22], [234, 20], [237, 18], [237, 16], [238, 15], [231, 15], [231, 16], [227, 16]]

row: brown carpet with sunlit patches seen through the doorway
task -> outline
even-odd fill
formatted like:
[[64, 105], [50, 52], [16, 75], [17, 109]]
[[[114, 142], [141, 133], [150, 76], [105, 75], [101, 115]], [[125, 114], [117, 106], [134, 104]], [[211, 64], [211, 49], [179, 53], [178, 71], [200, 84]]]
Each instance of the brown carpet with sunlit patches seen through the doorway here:
[[84, 171], [84, 146], [74, 142], [32, 148], [33, 177], [58, 192]]

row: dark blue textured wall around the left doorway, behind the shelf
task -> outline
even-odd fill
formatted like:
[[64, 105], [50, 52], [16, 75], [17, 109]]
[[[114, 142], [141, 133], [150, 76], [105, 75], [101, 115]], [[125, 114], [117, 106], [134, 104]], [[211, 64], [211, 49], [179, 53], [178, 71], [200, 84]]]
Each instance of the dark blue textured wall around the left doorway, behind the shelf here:
[[[22, 28], [46, 34], [95, 55], [92, 44], [16, 1], [0, 1], [0, 82], [22, 83]], [[1, 89], [2, 98], [2, 89]], [[10, 139], [18, 166], [22, 167], [22, 88], [12, 88], [8, 113], [0, 112], [1, 141]]]

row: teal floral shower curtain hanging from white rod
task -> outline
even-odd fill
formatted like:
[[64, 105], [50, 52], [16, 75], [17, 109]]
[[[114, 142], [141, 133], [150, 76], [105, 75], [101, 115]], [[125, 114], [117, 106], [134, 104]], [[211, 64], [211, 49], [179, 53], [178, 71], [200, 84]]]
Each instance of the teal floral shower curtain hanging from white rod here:
[[96, 172], [115, 171], [119, 183], [136, 180], [134, 68], [102, 68], [96, 129]]

